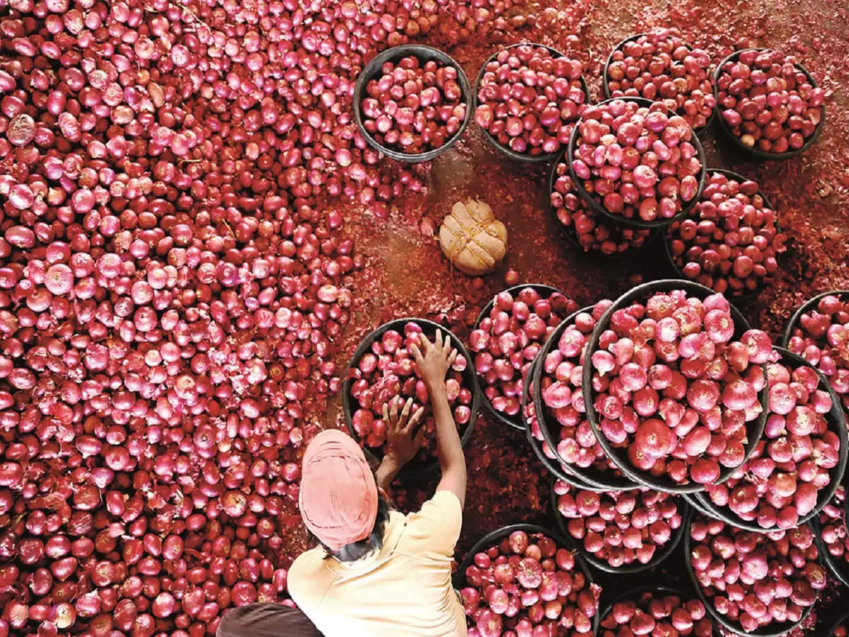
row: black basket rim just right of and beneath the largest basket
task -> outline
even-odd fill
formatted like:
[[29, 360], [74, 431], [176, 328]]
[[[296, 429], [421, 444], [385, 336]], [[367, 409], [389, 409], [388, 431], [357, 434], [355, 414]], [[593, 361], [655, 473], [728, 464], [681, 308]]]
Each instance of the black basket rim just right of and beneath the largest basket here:
[[[801, 518], [799, 518], [799, 522], [796, 526], [800, 526], [801, 524], [804, 524], [807, 521], [816, 519], [816, 516], [818, 516], [819, 512], [823, 510], [823, 507], [829, 503], [829, 500], [835, 497], [835, 492], [837, 491], [837, 488], [840, 487], [841, 482], [843, 481], [844, 473], [846, 471], [846, 441], [849, 441], [849, 432], [846, 431], [846, 418], [843, 415], [843, 405], [841, 404], [840, 398], [837, 397], [835, 391], [829, 385], [828, 379], [822, 374], [822, 372], [820, 372], [812, 364], [808, 363], [807, 360], [801, 358], [801, 356], [796, 356], [796, 354], [794, 354], [793, 352], [788, 352], [782, 347], [775, 347], [774, 349], [779, 352], [779, 354], [781, 354], [781, 359], [779, 362], [785, 365], [789, 365], [793, 369], [797, 369], [799, 367], [809, 367], [817, 373], [820, 384], [824, 387], [824, 390], [826, 392], [829, 392], [829, 395], [831, 396], [831, 411], [829, 411], [828, 414], [825, 414], [826, 420], [829, 421], [829, 430], [836, 431], [842, 443], [837, 465], [835, 465], [829, 471], [829, 475], [831, 476], [831, 482], [829, 482], [829, 487], [822, 488], [818, 491], [817, 505], [806, 516], [802, 516]], [[715, 517], [719, 520], [728, 522], [728, 524], [732, 524], [734, 525], [734, 527], [743, 528], [746, 531], [754, 531], [755, 533], [767, 533], [770, 531], [779, 530], [778, 527], [760, 527], [757, 521], [743, 520], [742, 518], [737, 516], [734, 511], [730, 510], [728, 506], [720, 507], [713, 504], [710, 496], [708, 496], [707, 493], [695, 493], [694, 496], [695, 498], [699, 499], [700, 504], [706, 511], [708, 511], [711, 517]]]

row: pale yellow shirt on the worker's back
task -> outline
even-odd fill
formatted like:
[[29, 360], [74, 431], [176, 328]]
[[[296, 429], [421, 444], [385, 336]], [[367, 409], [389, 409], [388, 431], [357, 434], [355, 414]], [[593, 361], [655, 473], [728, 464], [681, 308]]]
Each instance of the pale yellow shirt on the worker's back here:
[[292, 600], [325, 637], [464, 637], [463, 606], [451, 586], [463, 510], [439, 491], [418, 513], [392, 511], [383, 548], [355, 562], [301, 554], [289, 571]]

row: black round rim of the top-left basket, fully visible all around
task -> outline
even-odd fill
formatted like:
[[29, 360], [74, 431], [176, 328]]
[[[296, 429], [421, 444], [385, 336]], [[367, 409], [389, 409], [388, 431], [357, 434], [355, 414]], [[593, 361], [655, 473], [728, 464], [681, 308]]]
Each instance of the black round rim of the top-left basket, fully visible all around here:
[[[445, 144], [442, 144], [439, 148], [430, 149], [424, 153], [416, 153], [413, 155], [408, 155], [400, 150], [387, 148], [383, 144], [379, 144], [378, 141], [372, 137], [371, 133], [363, 127], [362, 111], [366, 85], [370, 80], [374, 79], [374, 77], [380, 75], [380, 67], [383, 66], [385, 62], [394, 63], [399, 59], [406, 58], [408, 56], [413, 56], [414, 58], [419, 59], [420, 62], [428, 62], [431, 59], [436, 60], [436, 62], [441, 65], [450, 65], [457, 69], [457, 82], [460, 85], [461, 99], [466, 104], [466, 116], [463, 119], [463, 123], [460, 124], [458, 131], [455, 132], [451, 138], [446, 140]], [[357, 76], [357, 82], [354, 84], [352, 106], [354, 110], [354, 121], [369, 146], [380, 150], [381, 153], [395, 161], [418, 163], [419, 161], [430, 161], [434, 157], [441, 155], [447, 149], [456, 144], [459, 138], [463, 137], [466, 127], [469, 126], [472, 110], [474, 110], [473, 98], [474, 96], [472, 95], [469, 78], [466, 77], [466, 74], [463, 72], [463, 67], [458, 65], [457, 62], [455, 62], [448, 54], [443, 53], [438, 48], [424, 46], [424, 44], [402, 44], [397, 47], [387, 48], [383, 53], [372, 59], [372, 61], [360, 71], [359, 76]]]

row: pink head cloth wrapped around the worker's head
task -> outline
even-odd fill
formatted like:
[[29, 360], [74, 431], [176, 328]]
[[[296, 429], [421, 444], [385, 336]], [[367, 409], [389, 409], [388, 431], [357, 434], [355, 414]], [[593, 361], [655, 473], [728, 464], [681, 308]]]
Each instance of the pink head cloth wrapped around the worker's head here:
[[301, 464], [301, 516], [329, 549], [368, 538], [377, 518], [377, 484], [363, 449], [343, 431], [322, 431]]

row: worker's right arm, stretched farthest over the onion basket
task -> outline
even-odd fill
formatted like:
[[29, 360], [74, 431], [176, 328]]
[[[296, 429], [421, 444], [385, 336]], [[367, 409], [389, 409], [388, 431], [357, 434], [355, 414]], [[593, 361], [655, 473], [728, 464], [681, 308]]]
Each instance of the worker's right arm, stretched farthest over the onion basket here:
[[462, 507], [466, 499], [466, 459], [445, 391], [445, 375], [457, 358], [457, 350], [452, 349], [447, 335], [442, 342], [441, 330], [437, 330], [435, 342], [431, 343], [424, 335], [420, 335], [419, 342], [421, 349], [413, 345], [413, 356], [430, 394], [436, 420], [436, 455], [442, 472], [436, 491], [450, 491]]

